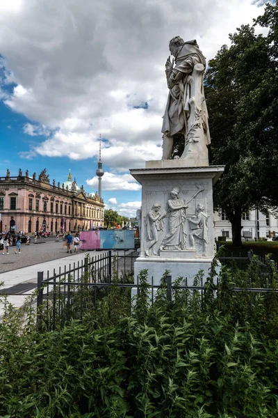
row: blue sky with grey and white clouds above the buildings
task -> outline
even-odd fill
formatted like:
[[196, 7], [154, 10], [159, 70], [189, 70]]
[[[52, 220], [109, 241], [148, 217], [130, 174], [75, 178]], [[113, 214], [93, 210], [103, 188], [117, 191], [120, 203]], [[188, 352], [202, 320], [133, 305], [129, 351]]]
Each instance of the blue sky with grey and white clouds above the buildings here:
[[173, 36], [197, 39], [207, 59], [263, 12], [252, 0], [0, 0], [0, 176], [69, 169], [104, 201], [135, 216], [130, 168], [161, 159], [165, 61]]

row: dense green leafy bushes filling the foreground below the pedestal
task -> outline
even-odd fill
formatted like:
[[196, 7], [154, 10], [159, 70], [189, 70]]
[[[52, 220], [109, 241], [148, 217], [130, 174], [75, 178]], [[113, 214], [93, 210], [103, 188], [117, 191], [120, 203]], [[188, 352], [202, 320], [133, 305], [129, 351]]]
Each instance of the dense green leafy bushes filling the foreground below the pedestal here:
[[[267, 263], [276, 289], [277, 271]], [[142, 270], [133, 309], [115, 285], [82, 322], [52, 332], [38, 328], [31, 301], [19, 310], [6, 302], [0, 416], [276, 417], [277, 294], [250, 298], [250, 278], [263, 286], [256, 258], [244, 272], [222, 268], [217, 292], [213, 268], [204, 293], [181, 289], [179, 278], [171, 302], [165, 272], [154, 304]]]

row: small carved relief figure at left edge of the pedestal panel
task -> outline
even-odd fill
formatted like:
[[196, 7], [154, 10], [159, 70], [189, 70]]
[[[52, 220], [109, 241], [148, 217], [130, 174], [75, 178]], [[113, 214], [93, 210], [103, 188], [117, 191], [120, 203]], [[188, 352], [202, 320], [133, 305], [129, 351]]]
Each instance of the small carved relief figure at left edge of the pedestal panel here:
[[[147, 213], [147, 238], [149, 242], [147, 242], [146, 249], [145, 249], [145, 255], [149, 256], [149, 251], [154, 247], [154, 244], [158, 242], [158, 231], [161, 231], [163, 229], [164, 221], [163, 221], [163, 215], [161, 212], [159, 212], [159, 209], [161, 208], [160, 203], [154, 203], [152, 206], [152, 209], [149, 210]], [[159, 254], [156, 251], [152, 250], [152, 254], [154, 256], [158, 256]]]

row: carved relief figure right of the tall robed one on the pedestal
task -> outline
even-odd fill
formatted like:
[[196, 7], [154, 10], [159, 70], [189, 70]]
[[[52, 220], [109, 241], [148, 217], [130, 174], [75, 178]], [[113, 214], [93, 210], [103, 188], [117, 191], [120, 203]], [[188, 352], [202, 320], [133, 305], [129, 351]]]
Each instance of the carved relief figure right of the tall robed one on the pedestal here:
[[208, 215], [204, 212], [204, 206], [199, 204], [195, 217], [188, 218], [191, 232], [188, 235], [191, 248], [195, 249], [195, 239], [202, 245], [202, 255], [206, 255], [208, 247]]

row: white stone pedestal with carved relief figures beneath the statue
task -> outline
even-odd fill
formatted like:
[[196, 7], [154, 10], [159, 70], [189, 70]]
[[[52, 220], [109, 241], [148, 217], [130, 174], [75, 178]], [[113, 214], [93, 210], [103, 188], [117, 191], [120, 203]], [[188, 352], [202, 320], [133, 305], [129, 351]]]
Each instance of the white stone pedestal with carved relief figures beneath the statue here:
[[215, 254], [213, 239], [213, 184], [224, 166], [184, 167], [185, 160], [149, 161], [145, 169], [131, 169], [142, 185], [140, 256], [135, 280], [147, 269], [160, 284], [165, 270], [172, 281], [188, 279], [199, 270], [205, 277]]

